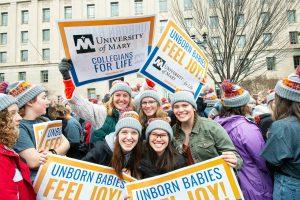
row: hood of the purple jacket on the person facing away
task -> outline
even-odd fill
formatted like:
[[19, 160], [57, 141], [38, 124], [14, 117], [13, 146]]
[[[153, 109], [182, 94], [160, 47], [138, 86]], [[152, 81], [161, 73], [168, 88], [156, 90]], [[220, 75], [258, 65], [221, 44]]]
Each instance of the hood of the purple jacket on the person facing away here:
[[249, 121], [244, 116], [241, 115], [232, 115], [230, 117], [216, 117], [214, 119], [216, 122], [218, 122], [227, 132], [230, 132], [232, 129], [237, 127], [238, 125], [245, 123], [246, 121]]

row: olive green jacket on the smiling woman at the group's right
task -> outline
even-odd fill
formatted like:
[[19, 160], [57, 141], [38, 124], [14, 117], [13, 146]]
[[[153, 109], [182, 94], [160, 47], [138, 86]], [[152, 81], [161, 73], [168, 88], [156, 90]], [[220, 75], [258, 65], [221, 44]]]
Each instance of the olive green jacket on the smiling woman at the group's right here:
[[[176, 148], [182, 152], [185, 134], [179, 124], [173, 126]], [[225, 129], [217, 122], [196, 115], [196, 122], [190, 135], [189, 146], [195, 163], [215, 158], [224, 151], [232, 151], [237, 156], [237, 168], [241, 168], [243, 160], [237, 153]]]

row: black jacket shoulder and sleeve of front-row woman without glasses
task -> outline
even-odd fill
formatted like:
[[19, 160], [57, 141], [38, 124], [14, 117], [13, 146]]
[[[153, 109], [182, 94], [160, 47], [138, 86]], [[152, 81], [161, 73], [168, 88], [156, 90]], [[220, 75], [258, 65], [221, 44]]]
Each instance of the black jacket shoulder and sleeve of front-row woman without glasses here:
[[96, 142], [86, 156], [82, 158], [83, 161], [92, 162], [99, 165], [109, 166], [113, 156], [112, 150], [109, 148], [106, 140]]

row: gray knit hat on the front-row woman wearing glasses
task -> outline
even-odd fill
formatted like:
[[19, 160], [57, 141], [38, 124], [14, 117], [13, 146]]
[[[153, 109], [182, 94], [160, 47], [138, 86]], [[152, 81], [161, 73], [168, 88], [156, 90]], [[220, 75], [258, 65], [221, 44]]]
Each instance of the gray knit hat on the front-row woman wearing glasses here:
[[170, 140], [173, 140], [174, 134], [171, 125], [166, 120], [159, 118], [150, 121], [146, 128], [146, 139], [148, 139], [150, 133], [156, 129], [166, 131], [169, 134]]

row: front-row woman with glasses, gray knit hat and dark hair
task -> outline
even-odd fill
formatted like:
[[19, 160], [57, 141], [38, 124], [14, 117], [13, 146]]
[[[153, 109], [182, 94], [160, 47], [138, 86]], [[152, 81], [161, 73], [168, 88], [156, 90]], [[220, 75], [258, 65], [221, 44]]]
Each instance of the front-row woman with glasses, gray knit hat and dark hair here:
[[165, 119], [152, 119], [146, 129], [146, 145], [141, 160], [142, 178], [149, 178], [187, 166], [173, 145], [173, 130]]

